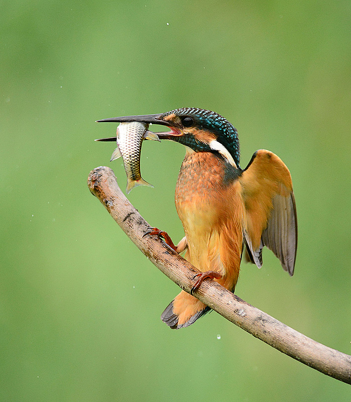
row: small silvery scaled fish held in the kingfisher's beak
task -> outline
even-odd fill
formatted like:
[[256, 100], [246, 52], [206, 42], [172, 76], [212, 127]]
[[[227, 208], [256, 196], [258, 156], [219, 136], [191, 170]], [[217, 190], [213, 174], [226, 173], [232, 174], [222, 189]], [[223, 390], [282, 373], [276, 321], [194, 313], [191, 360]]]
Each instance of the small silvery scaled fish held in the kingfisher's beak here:
[[122, 156], [127, 174], [127, 194], [139, 185], [153, 187], [142, 178], [140, 172], [140, 155], [144, 139], [160, 141], [157, 134], [149, 131], [149, 125], [146, 123], [121, 123], [117, 128], [117, 148], [112, 152], [110, 161]]

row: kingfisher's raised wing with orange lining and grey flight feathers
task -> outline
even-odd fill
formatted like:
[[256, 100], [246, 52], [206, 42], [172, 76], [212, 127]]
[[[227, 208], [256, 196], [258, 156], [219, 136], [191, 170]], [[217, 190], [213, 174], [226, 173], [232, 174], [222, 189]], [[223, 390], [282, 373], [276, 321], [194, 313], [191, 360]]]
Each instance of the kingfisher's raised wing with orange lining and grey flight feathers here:
[[240, 178], [246, 207], [244, 236], [250, 258], [260, 268], [267, 246], [290, 275], [294, 273], [297, 218], [291, 176], [273, 152], [260, 149]]

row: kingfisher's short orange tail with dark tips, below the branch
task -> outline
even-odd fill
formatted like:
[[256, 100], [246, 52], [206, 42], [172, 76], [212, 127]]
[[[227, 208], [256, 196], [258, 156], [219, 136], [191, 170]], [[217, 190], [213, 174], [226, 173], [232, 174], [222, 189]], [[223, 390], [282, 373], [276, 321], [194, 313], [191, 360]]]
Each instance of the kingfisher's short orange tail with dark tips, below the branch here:
[[182, 290], [166, 307], [161, 320], [173, 330], [189, 327], [211, 309], [197, 298]]

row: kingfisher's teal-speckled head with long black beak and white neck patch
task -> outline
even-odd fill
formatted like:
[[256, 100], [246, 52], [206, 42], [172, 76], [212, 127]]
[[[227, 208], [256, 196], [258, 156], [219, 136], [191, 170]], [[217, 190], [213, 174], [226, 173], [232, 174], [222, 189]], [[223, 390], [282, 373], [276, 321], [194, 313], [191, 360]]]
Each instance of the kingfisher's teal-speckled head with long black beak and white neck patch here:
[[237, 130], [224, 117], [209, 110], [181, 108], [159, 115], [123, 116], [98, 122], [144, 122], [167, 126], [171, 131], [157, 133], [160, 139], [179, 142], [195, 152], [218, 153], [232, 166], [240, 168]]

